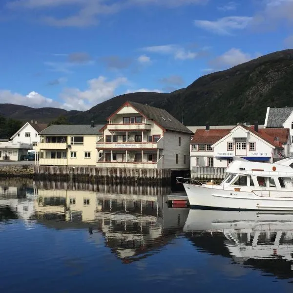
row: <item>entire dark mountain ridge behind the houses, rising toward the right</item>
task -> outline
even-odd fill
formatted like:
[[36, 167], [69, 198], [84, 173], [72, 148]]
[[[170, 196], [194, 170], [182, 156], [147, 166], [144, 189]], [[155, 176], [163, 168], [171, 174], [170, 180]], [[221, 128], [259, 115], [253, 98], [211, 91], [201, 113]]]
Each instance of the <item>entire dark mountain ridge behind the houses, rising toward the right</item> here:
[[[94, 119], [96, 124], [104, 124], [113, 111], [129, 100], [164, 108], [179, 121], [182, 121], [183, 113], [183, 122], [188, 126], [204, 125], [207, 121], [211, 125], [235, 125], [237, 122], [254, 121], [263, 124], [267, 106], [293, 106], [292, 98], [293, 49], [289, 49], [202, 76], [188, 87], [172, 93], [131, 93], [114, 97], [84, 112], [41, 108], [33, 109], [35, 112], [32, 111], [31, 114], [37, 116], [40, 112], [40, 117], [51, 115], [51, 120], [52, 115], [62, 114], [68, 117], [70, 123], [89, 124]], [[22, 108], [19, 108], [19, 112], [3, 110], [3, 105], [9, 104], [0, 105], [0, 115], [1, 112], [6, 112], [7, 116], [11, 112], [14, 116], [10, 117], [23, 119], [21, 113], [29, 113], [28, 109]], [[36, 116], [30, 115], [29, 118], [39, 119]]]

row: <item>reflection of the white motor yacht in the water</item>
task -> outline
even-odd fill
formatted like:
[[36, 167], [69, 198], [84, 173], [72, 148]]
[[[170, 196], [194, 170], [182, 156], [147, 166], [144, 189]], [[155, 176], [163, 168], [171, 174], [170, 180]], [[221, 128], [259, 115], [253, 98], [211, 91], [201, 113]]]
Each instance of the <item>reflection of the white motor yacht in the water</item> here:
[[293, 277], [293, 213], [190, 209], [183, 230], [205, 252]]

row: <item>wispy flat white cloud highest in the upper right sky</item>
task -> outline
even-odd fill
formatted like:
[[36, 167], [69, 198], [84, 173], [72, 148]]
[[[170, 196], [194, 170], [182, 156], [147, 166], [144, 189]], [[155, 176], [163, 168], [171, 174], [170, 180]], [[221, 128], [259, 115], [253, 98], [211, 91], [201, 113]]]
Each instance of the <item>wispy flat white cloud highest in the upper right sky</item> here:
[[234, 30], [245, 29], [251, 21], [252, 17], [248, 16], [229, 16], [216, 21], [196, 20], [194, 25], [215, 34], [231, 35], [231, 32]]

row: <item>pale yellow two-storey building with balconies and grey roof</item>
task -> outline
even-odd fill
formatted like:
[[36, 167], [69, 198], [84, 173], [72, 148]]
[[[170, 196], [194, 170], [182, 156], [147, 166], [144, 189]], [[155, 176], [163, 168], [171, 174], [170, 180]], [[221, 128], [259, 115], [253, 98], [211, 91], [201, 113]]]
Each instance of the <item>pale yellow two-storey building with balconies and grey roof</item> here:
[[96, 142], [103, 125], [51, 125], [39, 135], [39, 165], [96, 166]]

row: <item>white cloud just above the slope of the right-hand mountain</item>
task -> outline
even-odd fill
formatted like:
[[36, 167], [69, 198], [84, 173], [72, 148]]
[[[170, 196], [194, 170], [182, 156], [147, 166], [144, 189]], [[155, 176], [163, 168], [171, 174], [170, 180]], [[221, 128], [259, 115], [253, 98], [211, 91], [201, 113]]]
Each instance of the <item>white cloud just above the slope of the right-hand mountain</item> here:
[[231, 48], [229, 51], [225, 52], [223, 55], [210, 61], [211, 65], [218, 68], [232, 67], [241, 63], [250, 61], [251, 59], [259, 57], [259, 53], [253, 55], [249, 53], [242, 52], [240, 49]]

